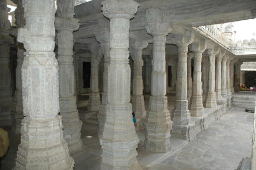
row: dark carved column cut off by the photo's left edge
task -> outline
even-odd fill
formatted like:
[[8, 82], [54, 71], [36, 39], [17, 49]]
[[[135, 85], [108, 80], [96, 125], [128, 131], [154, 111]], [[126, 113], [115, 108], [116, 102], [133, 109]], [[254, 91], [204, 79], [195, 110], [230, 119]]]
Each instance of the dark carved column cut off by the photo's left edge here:
[[10, 44], [13, 39], [9, 36], [11, 26], [8, 20], [9, 8], [6, 0], [0, 1], [0, 125], [12, 125], [10, 111], [12, 110], [12, 90], [11, 90], [11, 68], [10, 68]]

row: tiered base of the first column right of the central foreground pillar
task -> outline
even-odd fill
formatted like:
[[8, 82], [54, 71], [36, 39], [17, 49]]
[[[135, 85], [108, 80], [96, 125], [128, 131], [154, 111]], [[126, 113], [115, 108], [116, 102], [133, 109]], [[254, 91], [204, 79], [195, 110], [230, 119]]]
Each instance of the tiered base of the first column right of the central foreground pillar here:
[[170, 131], [173, 122], [167, 109], [166, 96], [150, 96], [146, 116], [145, 148], [151, 152], [166, 152], [171, 149]]

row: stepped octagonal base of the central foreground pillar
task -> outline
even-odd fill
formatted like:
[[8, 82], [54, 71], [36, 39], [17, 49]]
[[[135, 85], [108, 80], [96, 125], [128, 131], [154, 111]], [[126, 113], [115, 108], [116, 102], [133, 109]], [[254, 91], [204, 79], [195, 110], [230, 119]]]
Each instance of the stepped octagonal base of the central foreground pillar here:
[[108, 103], [100, 144], [101, 169], [137, 169], [139, 138], [132, 122], [131, 103]]

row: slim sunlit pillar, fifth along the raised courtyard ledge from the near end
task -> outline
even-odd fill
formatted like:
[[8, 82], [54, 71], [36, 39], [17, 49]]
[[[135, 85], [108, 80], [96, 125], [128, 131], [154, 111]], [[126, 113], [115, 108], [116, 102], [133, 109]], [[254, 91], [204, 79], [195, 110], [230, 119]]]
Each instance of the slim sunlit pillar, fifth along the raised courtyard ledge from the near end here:
[[227, 60], [229, 55], [225, 55], [221, 60], [221, 95], [227, 97]]

